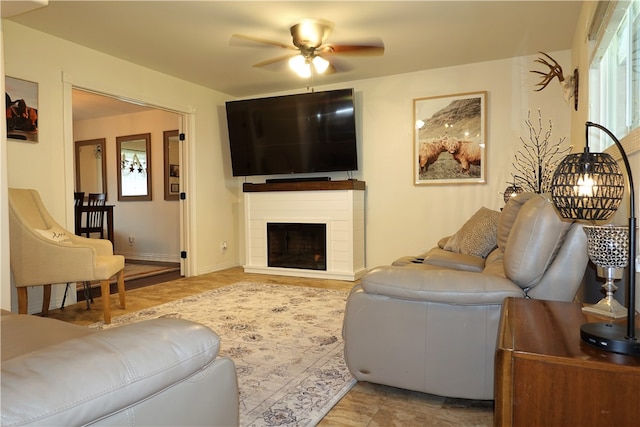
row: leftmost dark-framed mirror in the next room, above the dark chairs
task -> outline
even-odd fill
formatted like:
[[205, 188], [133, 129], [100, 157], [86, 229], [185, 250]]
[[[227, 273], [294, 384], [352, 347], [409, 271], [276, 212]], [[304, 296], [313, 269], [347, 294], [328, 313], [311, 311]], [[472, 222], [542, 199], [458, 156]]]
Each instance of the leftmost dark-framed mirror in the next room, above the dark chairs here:
[[105, 138], [75, 142], [76, 190], [85, 194], [107, 193]]

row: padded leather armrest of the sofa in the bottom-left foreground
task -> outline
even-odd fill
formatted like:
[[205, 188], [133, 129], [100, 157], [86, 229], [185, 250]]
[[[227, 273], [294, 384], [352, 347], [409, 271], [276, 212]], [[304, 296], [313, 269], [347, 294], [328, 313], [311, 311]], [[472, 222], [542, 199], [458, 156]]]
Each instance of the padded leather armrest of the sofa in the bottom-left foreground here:
[[2, 364], [1, 424], [84, 425], [197, 375], [219, 348], [205, 326], [155, 319], [23, 354]]

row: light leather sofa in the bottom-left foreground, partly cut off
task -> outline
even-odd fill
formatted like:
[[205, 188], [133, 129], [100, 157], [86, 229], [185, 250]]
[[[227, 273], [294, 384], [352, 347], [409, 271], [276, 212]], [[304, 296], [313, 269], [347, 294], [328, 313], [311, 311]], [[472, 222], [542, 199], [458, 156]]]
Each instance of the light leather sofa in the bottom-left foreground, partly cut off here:
[[2, 311], [9, 426], [234, 426], [238, 384], [220, 339], [181, 319], [104, 331]]

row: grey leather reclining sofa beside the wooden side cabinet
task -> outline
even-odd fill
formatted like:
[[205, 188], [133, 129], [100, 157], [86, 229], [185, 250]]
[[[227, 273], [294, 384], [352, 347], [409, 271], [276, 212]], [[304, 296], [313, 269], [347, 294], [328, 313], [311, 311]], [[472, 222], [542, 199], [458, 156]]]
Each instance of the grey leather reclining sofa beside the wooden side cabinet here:
[[496, 240], [486, 259], [435, 247], [365, 274], [344, 317], [352, 375], [441, 396], [493, 399], [503, 300], [571, 301], [588, 262], [582, 226], [562, 220], [542, 195], [511, 199]]

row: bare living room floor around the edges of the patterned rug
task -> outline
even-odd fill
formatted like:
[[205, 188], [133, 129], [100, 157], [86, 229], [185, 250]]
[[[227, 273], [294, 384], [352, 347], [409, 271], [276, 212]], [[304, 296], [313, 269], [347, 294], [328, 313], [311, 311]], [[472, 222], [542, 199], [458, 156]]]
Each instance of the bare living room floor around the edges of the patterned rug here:
[[[248, 274], [241, 267], [128, 290], [126, 309], [112, 295], [112, 316], [138, 311], [236, 282], [275, 283], [349, 290], [354, 282]], [[357, 282], [356, 282], [357, 283]], [[89, 325], [102, 320], [102, 298], [49, 311], [49, 317]], [[381, 343], [382, 345], [382, 343]], [[449, 399], [379, 384], [357, 383], [320, 426], [491, 426], [493, 402]]]

